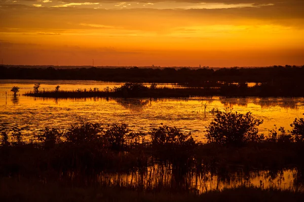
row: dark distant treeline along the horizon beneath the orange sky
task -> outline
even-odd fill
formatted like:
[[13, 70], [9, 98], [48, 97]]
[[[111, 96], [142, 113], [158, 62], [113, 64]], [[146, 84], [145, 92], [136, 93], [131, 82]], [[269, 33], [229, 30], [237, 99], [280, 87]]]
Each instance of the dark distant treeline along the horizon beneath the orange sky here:
[[21, 68], [0, 66], [0, 79], [81, 79], [108, 82], [179, 83], [188, 86], [209, 86], [214, 82], [227, 83], [290, 83], [301, 85], [304, 65], [259, 68]]

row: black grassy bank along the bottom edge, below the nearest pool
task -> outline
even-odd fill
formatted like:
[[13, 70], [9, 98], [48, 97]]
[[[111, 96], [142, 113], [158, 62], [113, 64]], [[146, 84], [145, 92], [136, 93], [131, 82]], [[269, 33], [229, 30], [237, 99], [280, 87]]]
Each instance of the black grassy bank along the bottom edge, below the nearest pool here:
[[258, 187], [238, 187], [212, 190], [204, 194], [195, 192], [167, 192], [166, 190], [134, 190], [131, 187], [104, 187], [43, 183], [26, 179], [1, 179], [0, 197], [3, 201], [302, 201], [303, 193]]

